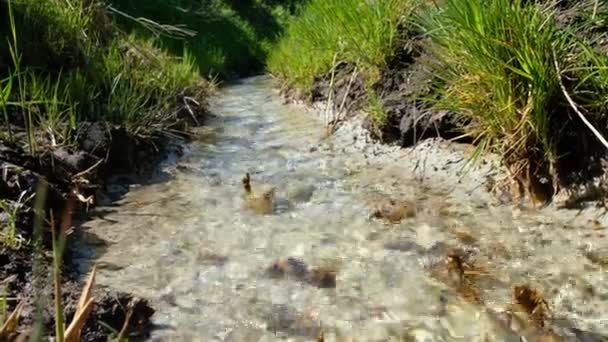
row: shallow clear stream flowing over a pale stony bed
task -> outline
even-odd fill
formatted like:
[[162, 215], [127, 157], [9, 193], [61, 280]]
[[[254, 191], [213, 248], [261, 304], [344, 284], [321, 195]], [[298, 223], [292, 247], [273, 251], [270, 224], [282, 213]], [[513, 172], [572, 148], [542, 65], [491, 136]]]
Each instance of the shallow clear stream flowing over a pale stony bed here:
[[[156, 308], [150, 340], [519, 341], [501, 312], [524, 283], [542, 289], [563, 340], [608, 331], [602, 217], [494, 205], [469, 191], [474, 176], [424, 181], [405, 149], [325, 138], [268, 77], [223, 88], [211, 112], [162, 181], [84, 227], [98, 283]], [[272, 214], [243, 209], [246, 173], [254, 194], [276, 188]], [[415, 216], [370, 217], [389, 198], [415, 203]], [[433, 276], [447, 246], [492, 275], [478, 284], [483, 305]], [[281, 258], [335, 271], [335, 286], [270, 276]]]

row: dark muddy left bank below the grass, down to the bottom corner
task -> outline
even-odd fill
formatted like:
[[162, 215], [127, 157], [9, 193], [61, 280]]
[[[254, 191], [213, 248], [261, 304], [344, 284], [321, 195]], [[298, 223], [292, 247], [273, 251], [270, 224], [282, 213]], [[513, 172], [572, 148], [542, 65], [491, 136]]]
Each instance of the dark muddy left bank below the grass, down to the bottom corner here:
[[[0, 225], [4, 228], [0, 280], [5, 281], [3, 288], [9, 298], [9, 310], [23, 300], [26, 302], [17, 332], [27, 332], [32, 327], [33, 297], [38, 288], [44, 298], [44, 333], [54, 334], [50, 213], [54, 214], [56, 226], [66, 227], [68, 231], [62, 264], [62, 295], [65, 322], [70, 322], [86, 281], [79, 265], [79, 260], [87, 258], [79, 242], [80, 224], [88, 219], [88, 211], [95, 206], [120, 199], [130, 184], [162, 179], [156, 172], [157, 165], [169, 156], [181, 155], [182, 146], [189, 139], [187, 127], [203, 120], [202, 108], [197, 115], [196, 122], [191, 117], [176, 119], [179, 129], [171, 135], [157, 132], [137, 136], [120, 126], [84, 122], [71, 146], [55, 145], [52, 136], [37, 134], [34, 153], [30, 152], [26, 134], [19, 127], [13, 127], [12, 140], [0, 139], [0, 201], [3, 203]], [[34, 203], [40, 186], [47, 189], [44, 213], [41, 213], [47, 222], [37, 233]], [[11, 227], [15, 231], [9, 235]], [[40, 242], [40, 248], [34, 247], [35, 241]], [[33, 267], [34, 258], [40, 261], [37, 270]], [[147, 336], [154, 309], [145, 299], [101, 287], [94, 287], [94, 299], [81, 340], [106, 341], [122, 329], [129, 311], [132, 315], [125, 336], [131, 339]]]

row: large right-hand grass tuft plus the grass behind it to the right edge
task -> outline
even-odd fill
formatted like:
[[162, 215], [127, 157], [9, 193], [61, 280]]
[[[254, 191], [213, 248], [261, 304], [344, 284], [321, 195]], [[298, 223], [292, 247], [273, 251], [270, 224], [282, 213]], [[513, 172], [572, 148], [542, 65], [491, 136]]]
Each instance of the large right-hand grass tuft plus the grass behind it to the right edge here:
[[[436, 108], [470, 122], [464, 129], [478, 144], [477, 155], [500, 154], [531, 193], [545, 176], [556, 190], [559, 159], [577, 150], [564, 146], [564, 136], [578, 135], [581, 143], [592, 137], [568, 114], [560, 78], [568, 76], [575, 102], [596, 122], [606, 117], [606, 58], [580, 38], [588, 20], [559, 27], [559, 14], [527, 1], [447, 0], [421, 16], [439, 80]], [[566, 75], [558, 74], [554, 55]], [[577, 89], [592, 89], [591, 98]]]

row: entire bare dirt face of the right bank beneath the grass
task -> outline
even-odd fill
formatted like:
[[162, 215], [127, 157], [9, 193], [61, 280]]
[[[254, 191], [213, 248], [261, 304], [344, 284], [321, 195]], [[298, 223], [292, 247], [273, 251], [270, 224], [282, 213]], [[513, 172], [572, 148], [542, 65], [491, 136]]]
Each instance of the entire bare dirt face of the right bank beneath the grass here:
[[[412, 36], [415, 35], [404, 33], [398, 44], [399, 49], [380, 71], [379, 79], [371, 87], [365, 85], [369, 80], [353, 65], [342, 63], [335, 68], [333, 80], [331, 73], [318, 77], [310, 94], [290, 88], [281, 89], [280, 94], [287, 103], [304, 105], [321, 113], [329, 112], [329, 121], [336, 128], [355, 120], [355, 126], [369, 132], [369, 139], [382, 144], [415, 150], [426, 139], [439, 138], [456, 143], [446, 146], [463, 144], [472, 152], [475, 148], [474, 141], [464, 136], [467, 122], [456, 113], [434, 110], [432, 101], [428, 101], [429, 98], [438, 96], [431, 87], [433, 80], [427, 70], [426, 59], [429, 57], [422, 50], [422, 38], [408, 38]], [[372, 119], [370, 103], [373, 102], [381, 105], [384, 116], [382, 122]], [[574, 125], [580, 124], [574, 131], [582, 132], [586, 128], [579, 121], [573, 120]], [[488, 180], [492, 183], [488, 189], [504, 203], [523, 200], [537, 205], [548, 204], [570, 209], [604, 206], [608, 189], [605, 149], [596, 146], [599, 145], [597, 141], [581, 142], [573, 139], [566, 144], [568, 146], [562, 144], [564, 146], [559, 147], [563, 157], [556, 165], [559, 179], [554, 180], [559, 184], [551, 184], [551, 177], [538, 172], [530, 176], [535, 188], [532, 191], [535, 196], [530, 198], [529, 191], [514, 182], [506, 168], [497, 168], [496, 176]], [[442, 143], [441, 146], [443, 145]], [[442, 148], [444, 147], [439, 149]], [[579, 151], [579, 148], [585, 151]], [[472, 153], [467, 154], [467, 158], [471, 156]], [[498, 156], [487, 157], [497, 161], [496, 167], [501, 165]], [[484, 183], [485, 180], [480, 180], [478, 185]], [[554, 188], [558, 189], [557, 193], [554, 193]]]

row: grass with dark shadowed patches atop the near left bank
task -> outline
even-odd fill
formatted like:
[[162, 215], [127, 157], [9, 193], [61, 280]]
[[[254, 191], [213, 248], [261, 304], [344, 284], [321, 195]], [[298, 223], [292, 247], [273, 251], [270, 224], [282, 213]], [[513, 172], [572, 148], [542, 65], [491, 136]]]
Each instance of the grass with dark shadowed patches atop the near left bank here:
[[86, 120], [160, 131], [184, 97], [201, 100], [206, 91], [191, 55], [116, 30], [101, 3], [3, 0], [0, 13], [1, 122], [9, 139], [9, 123], [25, 127], [32, 151], [37, 131], [69, 143]]

